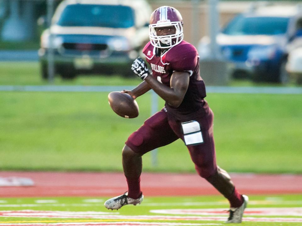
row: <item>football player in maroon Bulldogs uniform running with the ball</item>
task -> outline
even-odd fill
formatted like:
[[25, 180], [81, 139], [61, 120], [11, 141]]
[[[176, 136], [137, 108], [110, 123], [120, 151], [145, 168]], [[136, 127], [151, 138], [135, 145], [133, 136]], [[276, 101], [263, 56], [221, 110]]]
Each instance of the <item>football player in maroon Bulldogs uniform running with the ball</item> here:
[[209, 181], [230, 202], [226, 223], [241, 223], [248, 197], [235, 188], [230, 176], [216, 165], [213, 137], [213, 112], [204, 98], [205, 85], [199, 73], [196, 48], [183, 40], [183, 21], [177, 9], [162, 6], [150, 17], [150, 41], [143, 49], [150, 64], [138, 57], [133, 72], [143, 80], [133, 90], [123, 90], [137, 98], [153, 89], [165, 100], [165, 107], [148, 118], [127, 139], [122, 164], [128, 191], [107, 200], [108, 209], [140, 204], [143, 154], [177, 139], [182, 139], [195, 164], [197, 173]]

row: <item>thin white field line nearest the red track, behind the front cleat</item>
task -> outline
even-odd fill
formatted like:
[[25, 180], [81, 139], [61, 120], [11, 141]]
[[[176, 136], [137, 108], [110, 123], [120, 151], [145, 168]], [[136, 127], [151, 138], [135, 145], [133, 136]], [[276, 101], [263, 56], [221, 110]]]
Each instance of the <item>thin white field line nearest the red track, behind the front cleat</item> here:
[[[100, 201], [101, 202], [101, 201]], [[0, 202], [1, 203], [1, 202]], [[4, 202], [3, 202], [4, 203]], [[282, 201], [282, 200], [255, 200], [249, 201], [249, 205], [301, 205], [302, 200]], [[226, 201], [220, 202], [143, 202], [144, 206], [222, 206], [228, 205]], [[36, 204], [0, 204], [0, 207], [90, 207], [90, 206], [103, 206], [103, 202], [91, 203], [36, 203]]]

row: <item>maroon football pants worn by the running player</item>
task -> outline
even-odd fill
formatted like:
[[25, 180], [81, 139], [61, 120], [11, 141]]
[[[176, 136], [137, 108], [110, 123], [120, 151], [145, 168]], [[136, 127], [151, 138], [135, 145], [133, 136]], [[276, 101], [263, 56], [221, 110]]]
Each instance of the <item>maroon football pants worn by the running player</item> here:
[[[186, 121], [199, 122], [204, 142], [198, 145], [187, 145], [187, 149], [198, 174], [207, 178], [215, 174], [217, 170], [213, 137], [214, 115], [209, 107], [202, 108], [200, 111], [202, 114], [196, 112]], [[182, 122], [185, 121], [176, 120], [163, 109], [148, 118], [137, 131], [133, 132], [126, 141], [126, 145], [135, 153], [143, 155], [155, 148], [170, 144], [178, 138], [184, 140]]]

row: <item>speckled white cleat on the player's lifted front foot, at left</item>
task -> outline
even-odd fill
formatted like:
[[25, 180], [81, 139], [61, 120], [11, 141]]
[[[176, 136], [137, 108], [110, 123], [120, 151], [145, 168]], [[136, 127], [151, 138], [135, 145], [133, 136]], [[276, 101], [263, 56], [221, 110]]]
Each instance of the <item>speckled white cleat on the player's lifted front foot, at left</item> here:
[[138, 199], [128, 198], [127, 195], [128, 195], [128, 191], [126, 191], [123, 195], [108, 199], [104, 203], [104, 206], [107, 209], [118, 210], [118, 209], [120, 209], [120, 207], [128, 205], [128, 204], [133, 204], [134, 206], [136, 206], [136, 204], [141, 204], [141, 202], [143, 201], [143, 198], [144, 198], [143, 194]]

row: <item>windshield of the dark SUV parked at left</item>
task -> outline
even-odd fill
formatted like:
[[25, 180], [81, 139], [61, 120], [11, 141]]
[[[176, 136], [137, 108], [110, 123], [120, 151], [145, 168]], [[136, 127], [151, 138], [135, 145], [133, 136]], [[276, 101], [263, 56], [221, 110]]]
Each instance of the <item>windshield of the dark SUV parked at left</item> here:
[[74, 4], [64, 8], [56, 24], [60, 26], [129, 28], [134, 25], [134, 15], [128, 6]]

